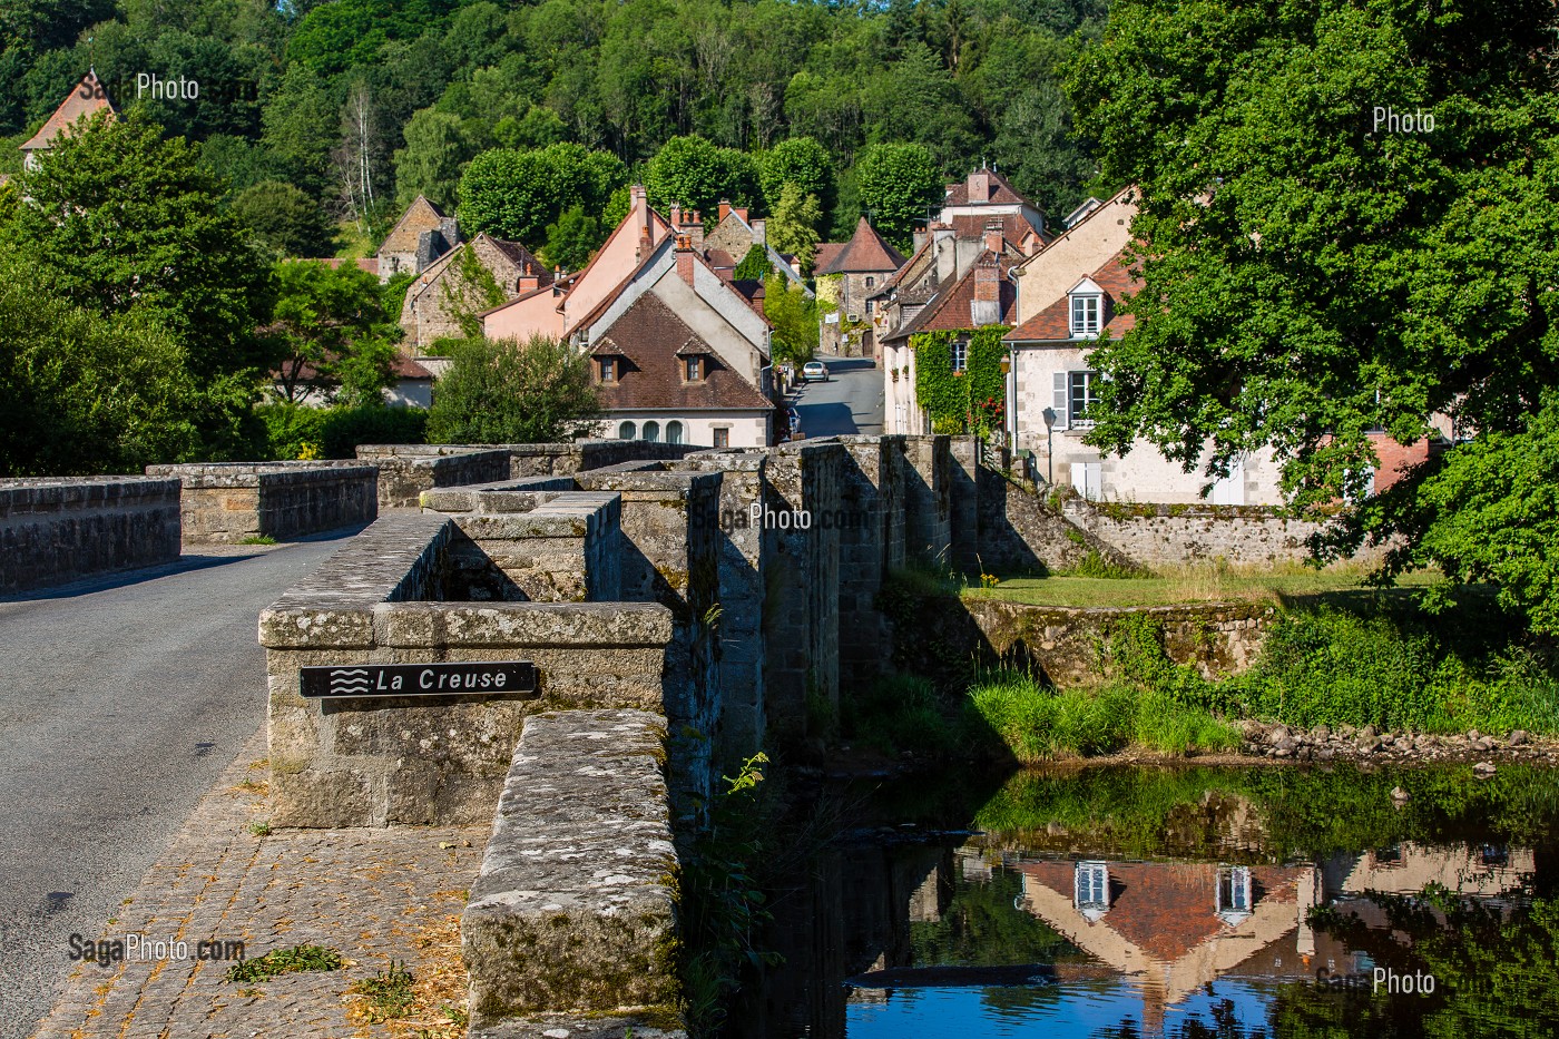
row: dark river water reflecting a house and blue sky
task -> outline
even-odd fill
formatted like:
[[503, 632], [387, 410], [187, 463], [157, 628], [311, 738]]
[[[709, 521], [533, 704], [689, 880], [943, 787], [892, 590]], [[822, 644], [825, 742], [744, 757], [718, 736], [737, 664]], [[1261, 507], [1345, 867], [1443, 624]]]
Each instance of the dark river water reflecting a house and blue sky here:
[[784, 963], [733, 1036], [1559, 1034], [1553, 771], [1093, 768], [850, 794], [856, 825], [772, 903]]

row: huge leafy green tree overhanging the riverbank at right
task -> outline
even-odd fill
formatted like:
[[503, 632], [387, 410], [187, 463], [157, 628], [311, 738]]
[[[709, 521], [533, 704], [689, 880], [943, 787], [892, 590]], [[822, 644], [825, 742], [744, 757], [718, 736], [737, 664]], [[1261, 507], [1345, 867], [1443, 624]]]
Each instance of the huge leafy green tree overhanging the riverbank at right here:
[[[1405, 534], [1420, 548], [1388, 574], [1433, 557], [1547, 616], [1537, 562], [1531, 580], [1495, 571], [1447, 507], [1475, 495], [1481, 462], [1461, 459], [1536, 437], [1515, 452], [1529, 457], [1548, 437], [1554, 30], [1540, 0], [1473, 0], [1453, 19], [1406, 3], [1113, 5], [1069, 87], [1105, 178], [1138, 186], [1143, 279], [1133, 331], [1091, 354], [1110, 376], [1091, 440], [1126, 451], [1141, 435], [1210, 479], [1271, 446], [1303, 510], [1367, 496], [1372, 429], [1412, 443], [1444, 412], [1487, 443], [1347, 510], [1319, 548]], [[1381, 125], [1389, 114], [1414, 129]], [[1543, 510], [1520, 524], [1553, 515], [1551, 499], [1509, 496]]]

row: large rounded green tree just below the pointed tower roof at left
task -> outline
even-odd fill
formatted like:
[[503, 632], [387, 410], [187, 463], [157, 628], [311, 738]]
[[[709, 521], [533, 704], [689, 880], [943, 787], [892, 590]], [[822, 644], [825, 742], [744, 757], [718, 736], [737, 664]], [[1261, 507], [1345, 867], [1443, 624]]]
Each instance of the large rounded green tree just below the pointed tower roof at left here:
[[23, 193], [11, 248], [62, 298], [101, 314], [153, 314], [201, 379], [270, 360], [253, 335], [270, 303], [270, 265], [181, 137], [164, 140], [134, 112], [100, 114], [55, 142]]

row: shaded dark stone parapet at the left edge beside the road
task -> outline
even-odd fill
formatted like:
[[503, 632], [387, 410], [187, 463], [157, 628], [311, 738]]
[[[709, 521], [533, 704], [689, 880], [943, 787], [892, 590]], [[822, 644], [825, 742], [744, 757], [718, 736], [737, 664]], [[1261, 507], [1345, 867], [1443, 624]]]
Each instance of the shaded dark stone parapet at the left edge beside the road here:
[[178, 557], [176, 479], [0, 480], [0, 594]]

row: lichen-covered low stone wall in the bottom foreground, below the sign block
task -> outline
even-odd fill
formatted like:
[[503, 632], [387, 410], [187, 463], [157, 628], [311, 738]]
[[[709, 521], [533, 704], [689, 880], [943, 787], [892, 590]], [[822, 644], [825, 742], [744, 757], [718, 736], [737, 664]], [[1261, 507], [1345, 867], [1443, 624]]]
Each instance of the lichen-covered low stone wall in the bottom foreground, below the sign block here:
[[525, 719], [460, 920], [472, 1034], [567, 1034], [507, 1020], [538, 1012], [677, 1020], [664, 744], [650, 711]]

